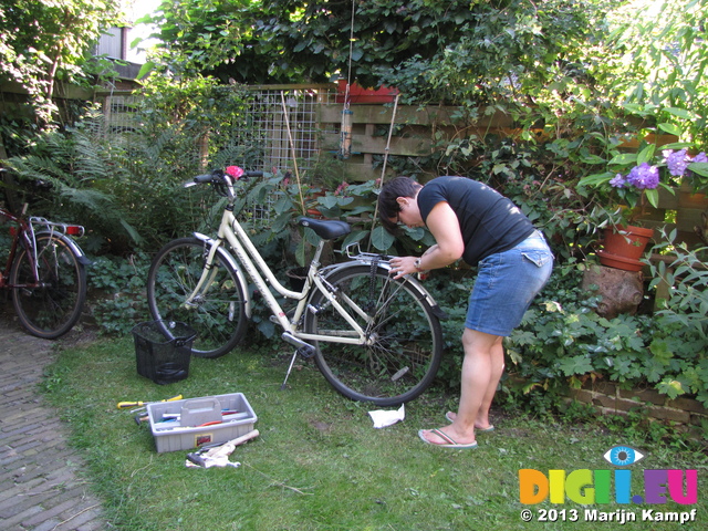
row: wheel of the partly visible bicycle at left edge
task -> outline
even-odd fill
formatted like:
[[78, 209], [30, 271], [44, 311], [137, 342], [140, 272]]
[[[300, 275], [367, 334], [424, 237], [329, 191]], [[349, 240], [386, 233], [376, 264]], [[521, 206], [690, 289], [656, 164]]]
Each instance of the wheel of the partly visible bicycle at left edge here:
[[12, 304], [20, 323], [32, 334], [55, 340], [81, 317], [86, 301], [86, 270], [66, 242], [56, 236], [37, 235], [38, 288], [30, 250], [22, 248], [12, 264]]

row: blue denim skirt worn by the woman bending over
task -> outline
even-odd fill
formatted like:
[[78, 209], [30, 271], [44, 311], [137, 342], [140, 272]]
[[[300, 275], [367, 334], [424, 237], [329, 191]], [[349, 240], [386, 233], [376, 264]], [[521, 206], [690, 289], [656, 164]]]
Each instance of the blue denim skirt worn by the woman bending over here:
[[487, 334], [511, 335], [552, 270], [553, 253], [538, 230], [513, 249], [485, 258], [479, 262], [465, 325]]

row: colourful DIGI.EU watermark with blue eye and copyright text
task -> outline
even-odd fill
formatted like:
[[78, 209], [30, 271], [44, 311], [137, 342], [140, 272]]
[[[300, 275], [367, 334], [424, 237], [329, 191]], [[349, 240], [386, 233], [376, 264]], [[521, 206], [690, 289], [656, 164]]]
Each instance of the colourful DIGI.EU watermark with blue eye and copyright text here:
[[[583, 506], [591, 504], [664, 504], [674, 501], [679, 506], [689, 506], [698, 501], [698, 471], [695, 469], [646, 469], [635, 471], [643, 479], [643, 489], [632, 491], [633, 470], [628, 468], [644, 458], [644, 454], [628, 446], [610, 448], [603, 458], [618, 467], [612, 469], [548, 470], [543, 472], [533, 468], [519, 470], [519, 501], [525, 506], [534, 506], [549, 501], [563, 504], [568, 501]], [[636, 479], [636, 478], [635, 478]], [[635, 489], [637, 482], [635, 481]], [[637, 489], [638, 490], [638, 489]], [[596, 509], [543, 509], [538, 517], [529, 509], [522, 511], [521, 518], [531, 521], [555, 521], [559, 516], [563, 520], [577, 521], [625, 521], [636, 520], [637, 514], [627, 509], [617, 509], [608, 513]], [[610, 514], [610, 517], [607, 517]], [[549, 516], [554, 516], [550, 519]], [[645, 509], [641, 513], [643, 521], [690, 521], [696, 518], [696, 510], [689, 512], [657, 512]], [[604, 520], [603, 520], [604, 519]], [[658, 519], [658, 520], [657, 520]]]

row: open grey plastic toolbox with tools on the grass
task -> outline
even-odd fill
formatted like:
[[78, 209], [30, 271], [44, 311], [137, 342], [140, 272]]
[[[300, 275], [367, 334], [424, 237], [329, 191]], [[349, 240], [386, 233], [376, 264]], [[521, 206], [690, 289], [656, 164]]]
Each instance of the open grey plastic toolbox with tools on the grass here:
[[258, 420], [242, 393], [148, 404], [147, 415], [158, 452], [226, 442]]

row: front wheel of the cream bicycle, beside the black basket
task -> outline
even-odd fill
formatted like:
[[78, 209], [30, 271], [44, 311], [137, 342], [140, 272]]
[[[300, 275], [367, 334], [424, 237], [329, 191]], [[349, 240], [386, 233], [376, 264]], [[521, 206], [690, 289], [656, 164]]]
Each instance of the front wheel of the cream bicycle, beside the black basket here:
[[[156, 321], [191, 326], [197, 332], [191, 353], [214, 358], [227, 354], [243, 339], [248, 320], [241, 283], [220, 254], [207, 296], [200, 296], [191, 308], [185, 306], [199, 282], [207, 252], [208, 247], [197, 238], [179, 238], [163, 247], [147, 275], [147, 303]], [[162, 329], [170, 337], [169, 327]]]

